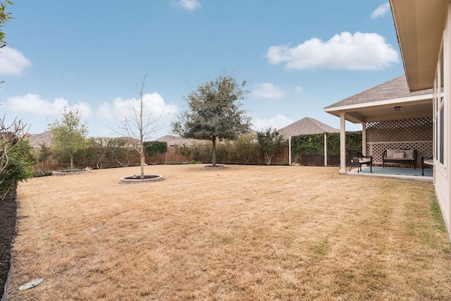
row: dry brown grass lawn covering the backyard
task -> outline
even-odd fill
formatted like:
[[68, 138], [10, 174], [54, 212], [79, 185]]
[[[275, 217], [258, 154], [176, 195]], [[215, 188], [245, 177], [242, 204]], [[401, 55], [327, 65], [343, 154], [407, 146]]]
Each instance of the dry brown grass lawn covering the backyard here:
[[[147, 166], [20, 183], [8, 300], [451, 300], [433, 185]], [[432, 208], [431, 208], [432, 207]], [[437, 217], [438, 216], [438, 217]], [[18, 287], [32, 278], [44, 282]]]

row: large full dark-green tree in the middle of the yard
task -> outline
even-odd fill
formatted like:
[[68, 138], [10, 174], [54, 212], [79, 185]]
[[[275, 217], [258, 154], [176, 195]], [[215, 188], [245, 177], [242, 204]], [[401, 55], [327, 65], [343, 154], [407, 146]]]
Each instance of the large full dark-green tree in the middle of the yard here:
[[172, 123], [173, 133], [183, 138], [211, 141], [213, 166], [217, 140], [234, 140], [249, 131], [250, 118], [241, 109], [241, 101], [249, 93], [245, 85], [245, 81], [239, 85], [228, 73], [205, 82], [185, 97], [188, 109]]

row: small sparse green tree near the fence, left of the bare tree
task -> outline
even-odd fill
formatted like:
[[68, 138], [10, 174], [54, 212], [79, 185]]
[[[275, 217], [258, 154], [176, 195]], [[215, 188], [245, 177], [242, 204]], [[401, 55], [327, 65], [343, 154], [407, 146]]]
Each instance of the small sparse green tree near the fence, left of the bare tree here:
[[53, 137], [51, 147], [56, 152], [70, 158], [70, 170], [73, 170], [73, 155], [85, 146], [87, 124], [80, 123], [81, 113], [78, 109], [64, 107], [61, 121], [49, 123]]

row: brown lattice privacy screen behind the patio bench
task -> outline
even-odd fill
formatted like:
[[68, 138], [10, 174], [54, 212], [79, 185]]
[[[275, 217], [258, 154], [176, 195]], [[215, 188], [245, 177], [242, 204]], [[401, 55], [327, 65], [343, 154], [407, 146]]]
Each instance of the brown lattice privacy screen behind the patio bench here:
[[375, 164], [382, 164], [385, 149], [416, 149], [419, 161], [421, 156], [432, 156], [432, 121], [418, 118], [366, 123], [366, 152]]

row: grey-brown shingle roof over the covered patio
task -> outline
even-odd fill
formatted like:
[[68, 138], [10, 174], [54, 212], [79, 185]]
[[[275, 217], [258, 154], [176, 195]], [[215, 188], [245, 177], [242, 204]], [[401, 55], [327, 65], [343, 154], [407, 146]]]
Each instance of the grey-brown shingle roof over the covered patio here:
[[412, 97], [416, 95], [431, 94], [432, 89], [421, 90], [416, 92], [410, 92], [407, 85], [407, 79], [405, 75], [402, 75], [388, 82], [384, 82], [381, 85], [372, 87], [369, 90], [354, 94], [351, 97], [342, 99], [340, 102], [335, 102], [326, 108], [332, 108], [334, 106], [348, 106], [352, 104], [364, 104], [366, 102], [377, 102], [379, 100], [398, 99], [403, 97]]

